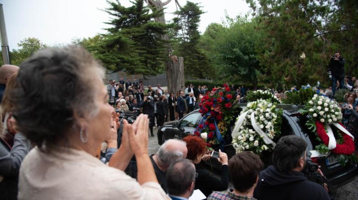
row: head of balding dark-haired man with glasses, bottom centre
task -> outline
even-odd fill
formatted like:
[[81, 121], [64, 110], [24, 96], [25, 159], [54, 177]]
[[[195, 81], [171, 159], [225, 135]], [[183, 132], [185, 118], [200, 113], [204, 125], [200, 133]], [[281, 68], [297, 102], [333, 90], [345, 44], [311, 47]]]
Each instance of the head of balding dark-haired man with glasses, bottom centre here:
[[195, 187], [195, 166], [188, 159], [173, 162], [166, 171], [166, 187], [173, 200], [188, 200]]

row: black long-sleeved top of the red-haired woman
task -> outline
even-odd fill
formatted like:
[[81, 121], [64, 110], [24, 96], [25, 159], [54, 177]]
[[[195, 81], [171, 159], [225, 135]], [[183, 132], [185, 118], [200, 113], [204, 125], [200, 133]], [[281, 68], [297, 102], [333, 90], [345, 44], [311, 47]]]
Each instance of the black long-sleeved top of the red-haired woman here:
[[209, 196], [213, 191], [227, 190], [229, 186], [229, 171], [227, 165], [221, 166], [221, 179], [209, 174], [201, 163], [195, 164], [195, 171], [199, 174], [195, 179], [195, 190], [199, 189], [205, 196]]

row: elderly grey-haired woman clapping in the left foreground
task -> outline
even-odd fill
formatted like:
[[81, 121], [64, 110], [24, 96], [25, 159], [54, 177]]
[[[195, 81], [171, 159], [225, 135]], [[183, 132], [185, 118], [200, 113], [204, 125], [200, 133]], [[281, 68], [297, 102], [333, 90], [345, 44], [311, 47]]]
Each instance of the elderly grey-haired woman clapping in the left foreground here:
[[[146, 115], [124, 121], [109, 166], [98, 160], [116, 131], [103, 77], [91, 54], [74, 46], [40, 50], [21, 64], [14, 117], [37, 146], [21, 165], [19, 199], [168, 199], [148, 156]], [[123, 172], [133, 154], [138, 182]]]

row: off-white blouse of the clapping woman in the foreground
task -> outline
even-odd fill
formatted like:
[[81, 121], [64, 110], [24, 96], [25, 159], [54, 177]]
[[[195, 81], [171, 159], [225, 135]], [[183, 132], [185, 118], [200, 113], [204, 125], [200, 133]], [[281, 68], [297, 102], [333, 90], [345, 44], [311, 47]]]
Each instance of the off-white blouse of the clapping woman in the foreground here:
[[169, 199], [156, 182], [139, 183], [84, 151], [67, 148], [25, 157], [18, 199]]

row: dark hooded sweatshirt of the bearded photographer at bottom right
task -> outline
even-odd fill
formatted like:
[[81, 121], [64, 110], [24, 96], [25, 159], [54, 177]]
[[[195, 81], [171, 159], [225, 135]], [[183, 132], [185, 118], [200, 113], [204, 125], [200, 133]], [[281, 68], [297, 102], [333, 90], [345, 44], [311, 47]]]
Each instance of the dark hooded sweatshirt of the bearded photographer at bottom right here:
[[260, 200], [329, 200], [323, 186], [307, 180], [302, 172], [282, 173], [274, 166], [260, 172], [253, 197]]

